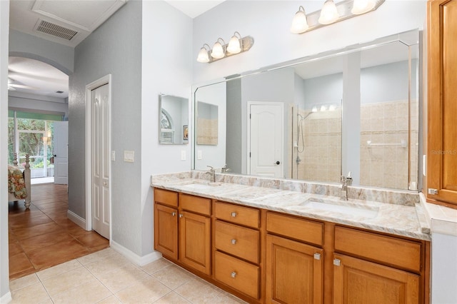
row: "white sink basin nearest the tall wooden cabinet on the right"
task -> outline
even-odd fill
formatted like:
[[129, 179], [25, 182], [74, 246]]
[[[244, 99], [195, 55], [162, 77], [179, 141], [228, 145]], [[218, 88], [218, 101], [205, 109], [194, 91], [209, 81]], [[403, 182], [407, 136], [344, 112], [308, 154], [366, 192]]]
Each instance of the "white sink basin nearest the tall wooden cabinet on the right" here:
[[303, 206], [322, 211], [343, 213], [350, 216], [361, 216], [363, 218], [376, 218], [379, 211], [378, 207], [361, 206], [346, 201], [321, 200], [318, 198], [308, 198], [308, 200], [303, 203]]

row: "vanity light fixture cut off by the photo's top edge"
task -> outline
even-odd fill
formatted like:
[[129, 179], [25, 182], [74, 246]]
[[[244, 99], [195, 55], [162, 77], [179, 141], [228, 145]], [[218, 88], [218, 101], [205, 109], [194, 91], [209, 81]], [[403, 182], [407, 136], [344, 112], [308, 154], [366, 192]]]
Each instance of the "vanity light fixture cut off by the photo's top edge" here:
[[350, 19], [352, 17], [366, 14], [369, 11], [378, 9], [385, 0], [343, 0], [334, 3], [333, 0], [326, 0], [321, 11], [314, 11], [306, 14], [303, 6], [298, 8], [293, 16], [291, 32], [302, 34], [306, 31], [321, 28], [328, 24]]

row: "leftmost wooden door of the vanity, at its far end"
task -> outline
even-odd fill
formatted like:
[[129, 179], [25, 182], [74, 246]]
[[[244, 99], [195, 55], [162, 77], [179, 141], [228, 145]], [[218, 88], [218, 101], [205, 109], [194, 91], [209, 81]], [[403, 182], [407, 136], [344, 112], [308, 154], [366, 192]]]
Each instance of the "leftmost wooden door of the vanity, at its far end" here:
[[178, 259], [178, 211], [157, 203], [154, 204], [154, 249]]

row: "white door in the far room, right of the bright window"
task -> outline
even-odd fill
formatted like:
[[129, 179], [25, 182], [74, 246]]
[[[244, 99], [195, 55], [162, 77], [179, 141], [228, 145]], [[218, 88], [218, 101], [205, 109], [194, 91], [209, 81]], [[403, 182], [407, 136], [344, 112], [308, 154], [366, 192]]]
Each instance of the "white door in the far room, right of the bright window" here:
[[61, 185], [69, 181], [69, 122], [54, 121], [54, 183]]

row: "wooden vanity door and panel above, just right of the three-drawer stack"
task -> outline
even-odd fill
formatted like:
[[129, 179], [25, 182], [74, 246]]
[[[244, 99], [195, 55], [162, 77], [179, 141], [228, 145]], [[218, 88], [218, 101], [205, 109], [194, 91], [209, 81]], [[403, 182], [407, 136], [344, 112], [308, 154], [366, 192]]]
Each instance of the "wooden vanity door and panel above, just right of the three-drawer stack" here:
[[266, 303], [323, 303], [323, 223], [267, 212], [266, 230]]

